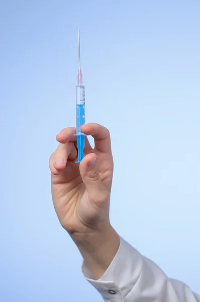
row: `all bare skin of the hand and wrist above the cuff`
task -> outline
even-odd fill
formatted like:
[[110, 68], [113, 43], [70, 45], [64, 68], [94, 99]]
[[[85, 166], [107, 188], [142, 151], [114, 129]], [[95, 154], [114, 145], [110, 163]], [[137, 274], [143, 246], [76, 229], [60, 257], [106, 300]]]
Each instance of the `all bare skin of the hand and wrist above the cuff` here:
[[82, 125], [81, 131], [94, 138], [94, 148], [85, 137], [84, 158], [78, 165], [75, 131], [65, 128], [56, 136], [59, 145], [49, 160], [52, 198], [61, 225], [97, 280], [120, 245], [109, 219], [114, 169], [111, 138], [99, 124]]

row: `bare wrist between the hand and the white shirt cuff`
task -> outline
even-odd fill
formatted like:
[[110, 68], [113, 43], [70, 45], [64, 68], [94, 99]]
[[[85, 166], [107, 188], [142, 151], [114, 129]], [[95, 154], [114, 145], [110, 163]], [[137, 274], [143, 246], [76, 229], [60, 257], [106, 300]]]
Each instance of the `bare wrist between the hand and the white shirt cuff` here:
[[73, 241], [77, 245], [85, 265], [91, 276], [97, 280], [103, 276], [120, 246], [120, 237], [110, 226], [104, 232], [74, 236]]

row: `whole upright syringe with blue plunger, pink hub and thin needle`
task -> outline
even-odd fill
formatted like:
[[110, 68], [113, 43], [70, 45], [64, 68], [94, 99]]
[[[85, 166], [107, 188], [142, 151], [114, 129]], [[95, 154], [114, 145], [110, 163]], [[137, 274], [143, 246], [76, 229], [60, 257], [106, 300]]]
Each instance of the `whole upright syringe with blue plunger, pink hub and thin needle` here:
[[78, 27], [78, 81], [76, 85], [76, 135], [77, 135], [77, 148], [78, 148], [78, 161], [79, 164], [83, 159], [83, 149], [85, 142], [85, 134], [80, 130], [80, 126], [85, 123], [85, 87], [82, 85], [82, 71], [80, 66], [80, 31]]

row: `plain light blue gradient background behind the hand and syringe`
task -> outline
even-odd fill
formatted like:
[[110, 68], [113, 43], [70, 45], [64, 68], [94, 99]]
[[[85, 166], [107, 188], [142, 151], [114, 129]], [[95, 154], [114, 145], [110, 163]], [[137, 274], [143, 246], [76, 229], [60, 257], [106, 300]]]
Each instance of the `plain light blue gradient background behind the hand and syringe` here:
[[4, 302], [100, 302], [51, 200], [56, 134], [75, 125], [77, 26], [86, 122], [111, 131], [111, 220], [200, 292], [198, 0], [1, 1]]

